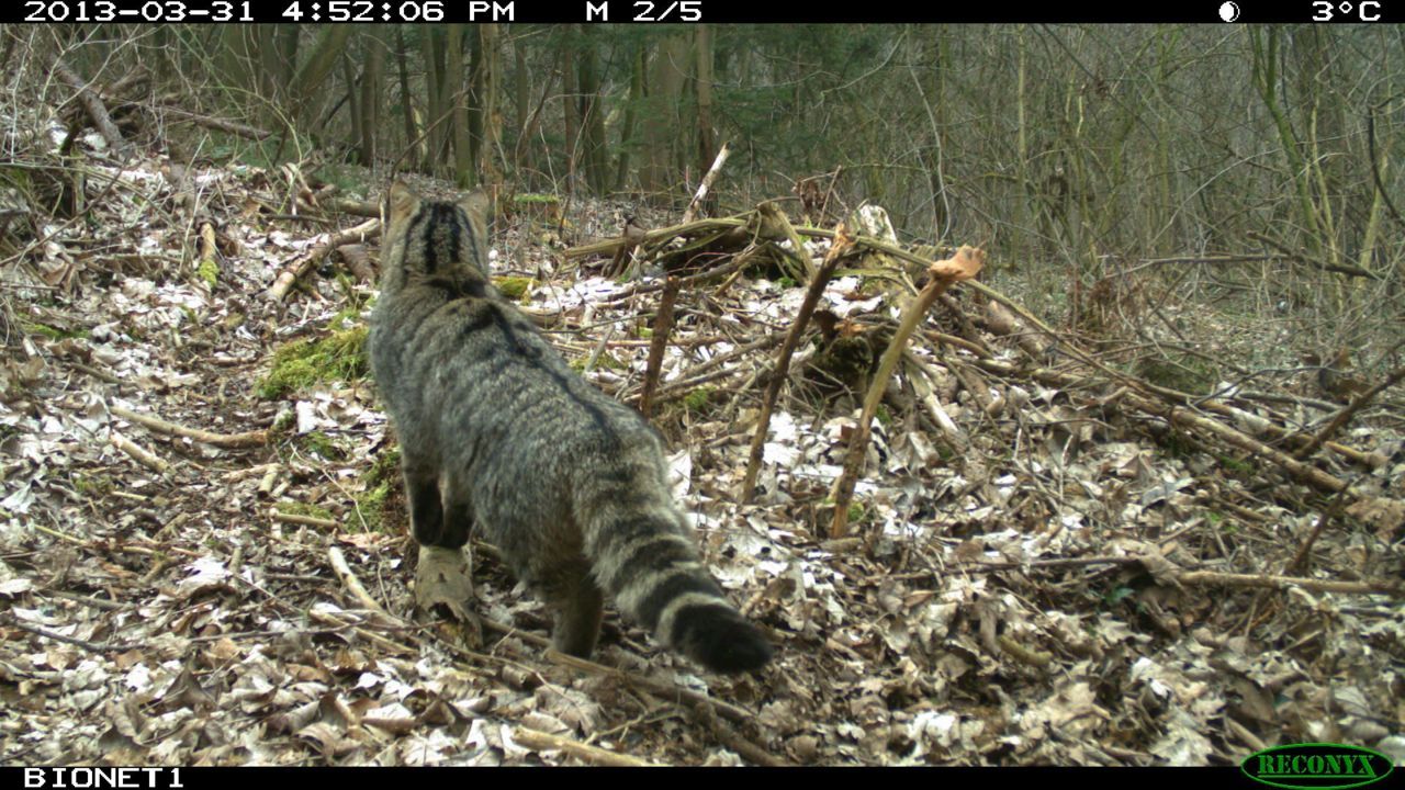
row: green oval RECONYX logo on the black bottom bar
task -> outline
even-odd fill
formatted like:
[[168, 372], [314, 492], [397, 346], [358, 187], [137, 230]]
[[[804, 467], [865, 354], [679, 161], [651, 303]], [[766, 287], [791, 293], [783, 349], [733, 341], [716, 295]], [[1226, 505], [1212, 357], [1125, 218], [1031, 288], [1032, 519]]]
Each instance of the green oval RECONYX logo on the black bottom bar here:
[[1255, 752], [1239, 763], [1249, 779], [1293, 790], [1340, 790], [1380, 782], [1390, 758], [1342, 744], [1290, 744]]

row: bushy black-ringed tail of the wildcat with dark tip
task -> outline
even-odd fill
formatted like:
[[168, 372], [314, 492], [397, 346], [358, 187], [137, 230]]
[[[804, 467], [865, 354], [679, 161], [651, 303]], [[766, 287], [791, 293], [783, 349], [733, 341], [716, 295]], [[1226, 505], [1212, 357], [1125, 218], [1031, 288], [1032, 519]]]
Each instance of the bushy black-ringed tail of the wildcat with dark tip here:
[[673, 507], [590, 507], [586, 555], [615, 606], [663, 644], [714, 672], [760, 669], [771, 645], [698, 561]]

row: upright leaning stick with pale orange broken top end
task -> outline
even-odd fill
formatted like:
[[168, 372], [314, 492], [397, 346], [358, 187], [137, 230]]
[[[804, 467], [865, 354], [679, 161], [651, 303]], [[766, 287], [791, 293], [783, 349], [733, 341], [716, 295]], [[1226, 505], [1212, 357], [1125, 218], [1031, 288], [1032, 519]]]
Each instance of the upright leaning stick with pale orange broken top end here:
[[[858, 472], [863, 471], [864, 455], [868, 453], [868, 432], [873, 427], [874, 415], [878, 413], [878, 403], [888, 389], [888, 380], [898, 368], [903, 350], [908, 347], [908, 337], [917, 329], [917, 323], [927, 315], [927, 309], [937, 301], [953, 283], [975, 277], [985, 266], [985, 252], [978, 247], [961, 247], [957, 254], [943, 264], [933, 264], [927, 273], [930, 281], [919, 292], [902, 313], [902, 322], [892, 335], [892, 342], [878, 361], [878, 371], [874, 373], [868, 384], [868, 394], [864, 395], [864, 410], [858, 416], [858, 426], [849, 439], [849, 450], [844, 455], [844, 471], [835, 478], [835, 486], [829, 498], [835, 503], [835, 516], [829, 523], [829, 537], [842, 538], [849, 527], [849, 502], [854, 498], [854, 485], [858, 482]], [[974, 394], [974, 392], [972, 392]]]

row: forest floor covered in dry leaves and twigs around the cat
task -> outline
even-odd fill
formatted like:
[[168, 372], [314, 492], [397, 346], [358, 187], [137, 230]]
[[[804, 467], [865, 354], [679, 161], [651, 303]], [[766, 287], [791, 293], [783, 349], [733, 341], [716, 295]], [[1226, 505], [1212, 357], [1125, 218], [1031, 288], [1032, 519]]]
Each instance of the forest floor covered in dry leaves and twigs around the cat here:
[[[710, 675], [611, 610], [599, 663], [573, 662], [489, 547], [481, 638], [413, 611], [393, 437], [358, 351], [375, 242], [309, 257], [367, 218], [313, 208], [291, 170], [84, 170], [72, 219], [34, 208], [10, 231], [0, 291], [3, 763], [1234, 765], [1302, 741], [1405, 758], [1398, 388], [1293, 467], [1342, 406], [1311, 370], [1177, 402], [1068, 337], [1000, 336], [958, 285], [832, 538], [856, 381], [905, 292], [828, 285], [743, 503], [805, 287], [763, 268], [698, 283], [655, 422], [708, 566], [776, 659]], [[499, 216], [493, 274], [631, 399], [658, 277], [561, 254], [562, 235], [618, 235], [618, 205], [544, 216]], [[1295, 364], [1283, 339], [1176, 311], [1193, 340]], [[844, 343], [856, 380], [833, 364], [856, 358]]]

